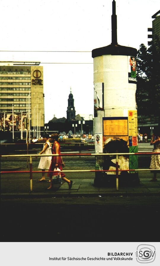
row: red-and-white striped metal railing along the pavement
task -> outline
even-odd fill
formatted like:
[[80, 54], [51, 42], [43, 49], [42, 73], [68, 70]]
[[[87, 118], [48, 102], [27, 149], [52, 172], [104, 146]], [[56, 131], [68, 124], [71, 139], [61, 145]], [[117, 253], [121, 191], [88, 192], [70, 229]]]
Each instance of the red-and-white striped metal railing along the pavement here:
[[[118, 173], [122, 172], [122, 171], [160, 171], [160, 169], [125, 169], [125, 170], [119, 170], [118, 169], [118, 157], [121, 155], [157, 155], [160, 154], [160, 152], [158, 153], [153, 153], [153, 152], [140, 152], [140, 153], [84, 153], [81, 154], [81, 156], [111, 156], [114, 155], [116, 156], [116, 170], [63, 170], [63, 172], [65, 173], [69, 173], [69, 172], [116, 172], [116, 190], [119, 190], [119, 176]], [[5, 173], [30, 173], [30, 191], [33, 191], [33, 184], [32, 184], [32, 173], [53, 173], [55, 171], [33, 171], [32, 170], [32, 157], [48, 157], [48, 156], [79, 156], [79, 154], [68, 154], [68, 153], [61, 153], [61, 154], [23, 154], [23, 155], [1, 155], [1, 158], [11, 158], [11, 157], [29, 157], [30, 158], [30, 170], [29, 171], [1, 171], [1, 174], [5, 174]]]

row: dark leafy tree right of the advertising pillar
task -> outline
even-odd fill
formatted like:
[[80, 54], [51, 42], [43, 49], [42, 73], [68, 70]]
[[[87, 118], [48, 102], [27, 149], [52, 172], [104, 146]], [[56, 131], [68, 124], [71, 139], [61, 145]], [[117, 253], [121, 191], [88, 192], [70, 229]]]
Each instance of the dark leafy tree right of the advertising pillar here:
[[138, 115], [160, 117], [160, 48], [158, 38], [147, 49], [142, 43], [137, 52]]

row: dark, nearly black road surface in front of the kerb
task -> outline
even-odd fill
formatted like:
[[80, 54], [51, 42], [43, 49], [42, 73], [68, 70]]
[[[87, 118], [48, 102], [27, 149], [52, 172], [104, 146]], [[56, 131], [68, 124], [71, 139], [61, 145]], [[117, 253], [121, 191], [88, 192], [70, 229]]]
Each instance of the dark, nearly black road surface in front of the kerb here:
[[2, 200], [1, 241], [159, 241], [159, 206], [158, 196]]

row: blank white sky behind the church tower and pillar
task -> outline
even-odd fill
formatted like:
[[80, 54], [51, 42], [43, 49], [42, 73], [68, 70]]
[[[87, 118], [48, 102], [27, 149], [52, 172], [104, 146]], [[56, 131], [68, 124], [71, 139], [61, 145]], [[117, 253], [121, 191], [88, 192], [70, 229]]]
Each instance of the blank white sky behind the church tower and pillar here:
[[[116, 0], [120, 45], [147, 46], [159, 0]], [[72, 88], [76, 115], [93, 114], [92, 51], [111, 43], [112, 0], [0, 0], [0, 61], [38, 61], [44, 67], [45, 122], [66, 117]], [[43, 64], [43, 63], [89, 64]]]

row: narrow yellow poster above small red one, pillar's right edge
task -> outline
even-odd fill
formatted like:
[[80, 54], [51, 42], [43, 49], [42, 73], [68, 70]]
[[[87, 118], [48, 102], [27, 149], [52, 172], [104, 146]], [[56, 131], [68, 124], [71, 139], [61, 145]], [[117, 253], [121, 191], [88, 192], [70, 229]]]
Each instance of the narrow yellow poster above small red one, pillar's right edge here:
[[137, 110], [128, 111], [129, 136], [137, 136]]

